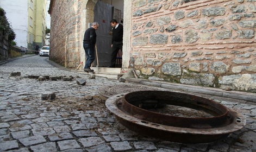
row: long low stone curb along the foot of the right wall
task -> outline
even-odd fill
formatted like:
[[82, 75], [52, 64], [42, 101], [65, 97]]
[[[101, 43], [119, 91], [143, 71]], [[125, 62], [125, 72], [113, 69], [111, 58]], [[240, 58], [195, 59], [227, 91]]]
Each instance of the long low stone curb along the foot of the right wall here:
[[168, 83], [168, 82], [164, 82], [164, 81], [143, 80], [143, 79], [135, 79], [135, 78], [129, 78], [129, 79], [126, 79], [126, 81], [133, 82], [133, 83], [139, 83], [142, 85], [151, 85], [151, 86], [171, 88], [171, 89], [194, 92], [194, 93], [209, 94], [209, 95], [224, 97], [224, 98], [246, 100], [248, 102], [256, 103], [256, 93], [226, 91], [226, 90], [222, 90], [220, 88], [192, 86], [192, 85]]

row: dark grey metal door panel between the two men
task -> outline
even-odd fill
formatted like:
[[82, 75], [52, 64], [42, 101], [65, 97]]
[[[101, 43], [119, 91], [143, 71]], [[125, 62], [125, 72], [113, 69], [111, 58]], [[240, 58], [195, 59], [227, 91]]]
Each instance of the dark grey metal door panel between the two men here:
[[[109, 34], [111, 30], [110, 21], [113, 16], [113, 5], [98, 1], [94, 9], [94, 21], [99, 23], [97, 34], [97, 50], [99, 67], [109, 67], [111, 60], [111, 40], [112, 35]], [[97, 65], [97, 59], [94, 62]]]

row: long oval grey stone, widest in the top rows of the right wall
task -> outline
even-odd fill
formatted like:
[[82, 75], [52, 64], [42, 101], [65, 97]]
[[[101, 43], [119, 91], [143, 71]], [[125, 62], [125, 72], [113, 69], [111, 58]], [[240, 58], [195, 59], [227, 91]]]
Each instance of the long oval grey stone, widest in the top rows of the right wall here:
[[202, 10], [202, 14], [208, 17], [220, 16], [226, 13], [226, 8], [223, 7], [211, 7]]

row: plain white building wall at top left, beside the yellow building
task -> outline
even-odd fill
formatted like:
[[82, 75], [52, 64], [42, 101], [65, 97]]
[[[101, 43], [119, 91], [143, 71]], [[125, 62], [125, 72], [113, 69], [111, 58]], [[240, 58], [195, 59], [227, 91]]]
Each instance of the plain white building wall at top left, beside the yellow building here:
[[5, 10], [8, 21], [13, 28], [17, 46], [28, 46], [28, 1], [0, 0], [0, 6]]

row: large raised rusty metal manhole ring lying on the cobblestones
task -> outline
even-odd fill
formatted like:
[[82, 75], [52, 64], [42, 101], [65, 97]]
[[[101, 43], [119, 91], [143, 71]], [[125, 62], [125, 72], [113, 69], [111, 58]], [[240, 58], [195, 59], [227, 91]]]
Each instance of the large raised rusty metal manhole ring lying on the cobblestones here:
[[[202, 110], [213, 117], [177, 117], [148, 110], [165, 104]], [[213, 142], [242, 129], [246, 124], [246, 119], [240, 113], [226, 106], [207, 98], [178, 92], [121, 93], [107, 99], [105, 105], [118, 122], [127, 128], [142, 135], [173, 142]]]

